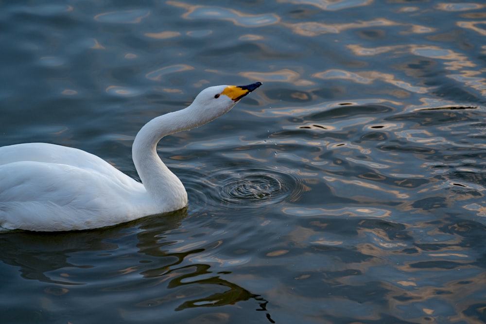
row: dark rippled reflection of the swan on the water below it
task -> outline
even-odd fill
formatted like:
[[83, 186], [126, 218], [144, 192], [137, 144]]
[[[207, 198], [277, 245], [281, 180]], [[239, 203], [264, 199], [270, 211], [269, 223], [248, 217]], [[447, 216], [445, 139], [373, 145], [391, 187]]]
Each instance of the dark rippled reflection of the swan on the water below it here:
[[[194, 242], [170, 239], [169, 234], [179, 230], [186, 216], [184, 211], [174, 212], [83, 232], [3, 233], [1, 261], [18, 267], [23, 278], [45, 283], [35, 295], [38, 300], [50, 299], [52, 305], [58, 303], [57, 296], [70, 303], [71, 296], [76, 298], [96, 285], [96, 290], [107, 298], [104, 304], [124, 309], [125, 319], [135, 316], [140, 308], [174, 305], [175, 311], [181, 311], [252, 299], [260, 305], [255, 310], [265, 311], [262, 316], [274, 323], [266, 311], [266, 300], [225, 280], [223, 277], [230, 272], [216, 274], [211, 265], [204, 264], [203, 252], [217, 245], [202, 241], [201, 247], [194, 248]], [[193, 259], [198, 255], [197, 260]], [[160, 285], [163, 289], [157, 288]], [[135, 299], [134, 292], [138, 296]], [[128, 302], [121, 301], [123, 296]], [[79, 307], [86, 303], [88, 300], [80, 301]], [[45, 312], [52, 316], [57, 310], [51, 306]]]

